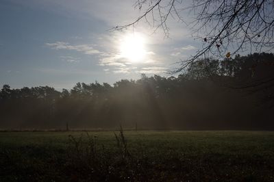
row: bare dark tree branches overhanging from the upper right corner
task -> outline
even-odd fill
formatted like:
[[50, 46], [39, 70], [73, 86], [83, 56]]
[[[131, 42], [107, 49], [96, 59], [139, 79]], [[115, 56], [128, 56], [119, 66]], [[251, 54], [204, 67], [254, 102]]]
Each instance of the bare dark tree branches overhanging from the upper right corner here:
[[[162, 27], [169, 36], [169, 18], [186, 23], [192, 36], [203, 47], [188, 60], [180, 62], [175, 73], [205, 55], [231, 57], [240, 51], [260, 52], [274, 48], [273, 0], [138, 0], [135, 8], [142, 15], [127, 25], [113, 29], [134, 27], [145, 20], [155, 30]], [[190, 21], [186, 13], [194, 16]]]

